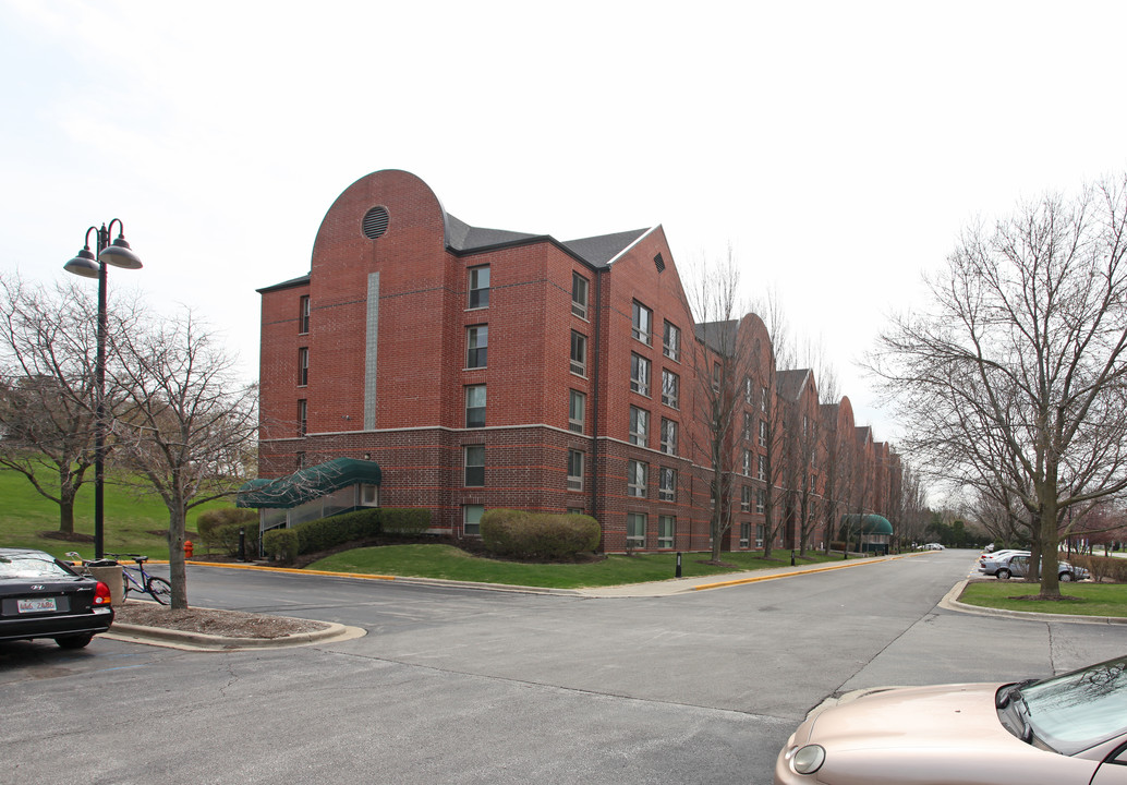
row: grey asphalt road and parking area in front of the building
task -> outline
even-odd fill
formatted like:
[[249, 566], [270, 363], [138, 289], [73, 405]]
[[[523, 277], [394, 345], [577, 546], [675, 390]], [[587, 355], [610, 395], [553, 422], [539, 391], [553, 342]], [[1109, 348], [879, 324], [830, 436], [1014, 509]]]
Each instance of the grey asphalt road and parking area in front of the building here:
[[1127, 651], [1124, 625], [939, 607], [974, 558], [619, 599], [192, 567], [194, 605], [367, 635], [230, 653], [0, 644], [0, 782], [769, 783], [828, 696]]

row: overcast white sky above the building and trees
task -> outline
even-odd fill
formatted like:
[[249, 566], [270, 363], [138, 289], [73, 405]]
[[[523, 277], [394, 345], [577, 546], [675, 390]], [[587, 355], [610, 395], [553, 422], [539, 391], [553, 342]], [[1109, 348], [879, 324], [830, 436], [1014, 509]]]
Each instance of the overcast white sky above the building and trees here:
[[[1127, 166], [1122, 2], [0, 0], [0, 274], [119, 218], [110, 291], [187, 306], [257, 378], [256, 289], [378, 169], [474, 226], [663, 224], [854, 361], [975, 217]], [[94, 285], [94, 282], [90, 282]]]

